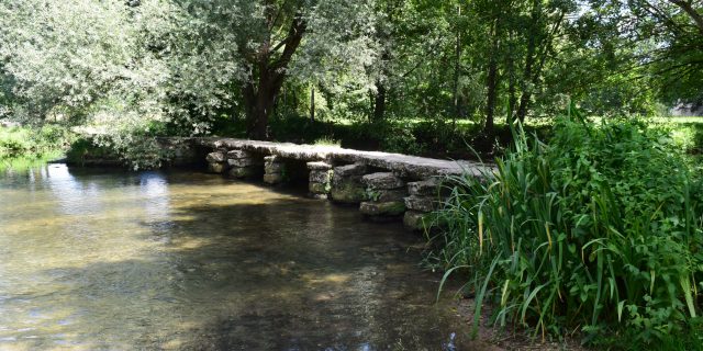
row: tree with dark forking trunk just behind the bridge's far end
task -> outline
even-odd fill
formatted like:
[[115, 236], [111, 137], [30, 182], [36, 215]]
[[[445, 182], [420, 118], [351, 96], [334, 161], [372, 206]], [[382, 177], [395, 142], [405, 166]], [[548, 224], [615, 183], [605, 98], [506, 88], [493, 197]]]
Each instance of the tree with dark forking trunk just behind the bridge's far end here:
[[328, 71], [357, 69], [354, 66], [372, 59], [372, 3], [368, 1], [179, 3], [188, 14], [186, 24], [196, 23], [200, 30], [189, 41], [208, 47], [232, 46], [230, 59], [244, 72], [233, 79], [238, 81], [253, 138], [269, 137], [268, 120], [287, 78], [319, 79]]

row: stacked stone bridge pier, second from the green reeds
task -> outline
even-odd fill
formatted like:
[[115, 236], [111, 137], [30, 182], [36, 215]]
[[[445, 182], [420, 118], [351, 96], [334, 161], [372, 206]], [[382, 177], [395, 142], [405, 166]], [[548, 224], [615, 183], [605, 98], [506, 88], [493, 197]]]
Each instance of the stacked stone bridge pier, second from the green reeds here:
[[366, 201], [359, 206], [362, 214], [373, 217], [397, 217], [405, 212], [403, 197], [408, 196], [405, 182], [391, 172], [361, 177], [366, 186]]

